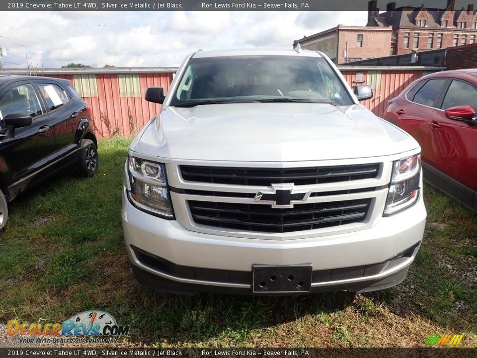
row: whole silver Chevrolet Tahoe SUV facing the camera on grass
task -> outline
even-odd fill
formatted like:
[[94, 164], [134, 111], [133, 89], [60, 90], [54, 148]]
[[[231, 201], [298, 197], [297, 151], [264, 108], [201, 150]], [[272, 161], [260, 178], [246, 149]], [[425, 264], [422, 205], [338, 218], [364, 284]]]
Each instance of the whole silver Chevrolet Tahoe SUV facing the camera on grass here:
[[426, 211], [420, 148], [322, 53], [199, 51], [125, 166], [136, 278], [168, 292], [293, 294], [402, 281]]

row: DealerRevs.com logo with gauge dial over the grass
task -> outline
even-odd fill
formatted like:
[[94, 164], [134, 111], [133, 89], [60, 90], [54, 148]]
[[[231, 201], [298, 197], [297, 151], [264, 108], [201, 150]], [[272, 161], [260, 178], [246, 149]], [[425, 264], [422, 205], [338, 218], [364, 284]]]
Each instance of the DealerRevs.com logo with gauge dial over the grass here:
[[[63, 337], [128, 337], [131, 326], [120, 326], [116, 319], [103, 311], [84, 311], [63, 323], [20, 323], [18, 320], [7, 322], [6, 333], [8, 336], [53, 336]], [[51, 343], [62, 343], [57, 339]], [[33, 342], [33, 341], [32, 341]], [[26, 343], [32, 343], [26, 342]]]

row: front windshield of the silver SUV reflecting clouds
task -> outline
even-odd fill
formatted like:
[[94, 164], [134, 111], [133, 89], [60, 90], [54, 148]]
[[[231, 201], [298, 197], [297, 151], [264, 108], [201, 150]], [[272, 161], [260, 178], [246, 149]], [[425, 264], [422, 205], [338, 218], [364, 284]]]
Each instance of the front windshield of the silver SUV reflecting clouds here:
[[353, 104], [323, 58], [237, 56], [190, 59], [170, 105], [237, 102]]

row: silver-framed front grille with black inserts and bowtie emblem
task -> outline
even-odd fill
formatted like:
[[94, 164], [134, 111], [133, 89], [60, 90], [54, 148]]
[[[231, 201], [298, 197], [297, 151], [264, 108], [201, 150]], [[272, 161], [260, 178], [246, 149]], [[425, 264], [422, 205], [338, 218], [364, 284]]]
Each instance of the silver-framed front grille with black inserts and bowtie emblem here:
[[374, 225], [382, 216], [393, 160], [297, 162], [289, 168], [177, 160], [166, 170], [177, 221], [186, 229], [290, 240]]

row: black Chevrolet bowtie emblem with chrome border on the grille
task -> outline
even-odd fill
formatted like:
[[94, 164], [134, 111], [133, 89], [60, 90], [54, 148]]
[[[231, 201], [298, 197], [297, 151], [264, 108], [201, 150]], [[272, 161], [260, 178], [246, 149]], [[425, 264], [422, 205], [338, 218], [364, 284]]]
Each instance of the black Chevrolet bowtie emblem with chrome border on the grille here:
[[295, 203], [305, 202], [310, 196], [309, 190], [295, 191], [292, 184], [272, 184], [271, 190], [257, 192], [253, 201], [270, 203], [272, 208], [292, 208]]

